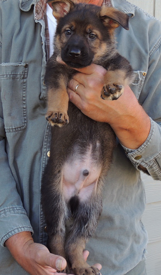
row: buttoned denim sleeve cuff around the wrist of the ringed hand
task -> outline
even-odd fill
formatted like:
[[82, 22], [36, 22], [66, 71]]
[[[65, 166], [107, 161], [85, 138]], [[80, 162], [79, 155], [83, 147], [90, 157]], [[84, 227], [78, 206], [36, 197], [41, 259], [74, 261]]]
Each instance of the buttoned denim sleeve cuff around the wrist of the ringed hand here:
[[136, 150], [121, 145], [134, 166], [142, 165], [154, 179], [161, 179], [161, 127], [151, 118], [150, 133]]

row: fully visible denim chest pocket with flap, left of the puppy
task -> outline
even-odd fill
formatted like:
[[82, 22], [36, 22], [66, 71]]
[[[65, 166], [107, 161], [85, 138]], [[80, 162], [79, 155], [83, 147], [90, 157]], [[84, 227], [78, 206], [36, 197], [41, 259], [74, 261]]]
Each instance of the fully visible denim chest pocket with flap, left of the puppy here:
[[6, 133], [26, 128], [27, 72], [28, 64], [25, 63], [0, 64], [1, 101]]

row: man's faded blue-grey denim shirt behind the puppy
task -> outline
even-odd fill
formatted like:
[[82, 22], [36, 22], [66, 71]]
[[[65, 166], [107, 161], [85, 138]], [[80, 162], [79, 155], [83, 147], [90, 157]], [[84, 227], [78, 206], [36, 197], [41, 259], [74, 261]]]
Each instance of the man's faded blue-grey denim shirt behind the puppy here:
[[[34, 18], [36, 2], [0, 0], [0, 275], [27, 274], [3, 247], [7, 238], [31, 231], [36, 242], [47, 240], [40, 186], [50, 126], [44, 118], [45, 23]], [[161, 23], [125, 0], [112, 2], [131, 16], [129, 31], [116, 30], [118, 49], [133, 66], [131, 88], [152, 119], [151, 131], [138, 150], [118, 143], [100, 222], [87, 249], [89, 263], [102, 264], [102, 275], [124, 275], [146, 253], [141, 222], [146, 199], [139, 164], [161, 179]]]

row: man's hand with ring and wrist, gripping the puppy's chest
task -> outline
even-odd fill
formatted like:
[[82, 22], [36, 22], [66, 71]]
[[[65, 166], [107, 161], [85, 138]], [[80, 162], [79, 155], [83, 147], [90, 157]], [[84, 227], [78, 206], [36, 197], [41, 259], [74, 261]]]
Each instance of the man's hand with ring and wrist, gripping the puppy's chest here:
[[[63, 63], [59, 57], [57, 61]], [[151, 123], [130, 87], [124, 87], [117, 100], [103, 100], [106, 70], [96, 64], [76, 70], [78, 74], [68, 83], [69, 100], [89, 118], [109, 123], [122, 145], [138, 149], [148, 137]]]

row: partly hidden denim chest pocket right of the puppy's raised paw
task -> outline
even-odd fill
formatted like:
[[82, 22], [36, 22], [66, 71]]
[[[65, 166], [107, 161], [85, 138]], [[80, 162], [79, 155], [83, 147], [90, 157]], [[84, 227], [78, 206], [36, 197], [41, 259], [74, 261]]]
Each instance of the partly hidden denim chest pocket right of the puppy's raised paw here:
[[139, 100], [142, 86], [145, 80], [146, 72], [143, 71], [134, 71], [134, 80], [130, 84], [130, 88], [135, 94], [136, 98]]

